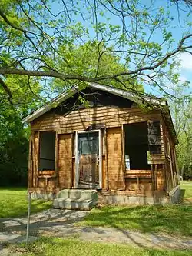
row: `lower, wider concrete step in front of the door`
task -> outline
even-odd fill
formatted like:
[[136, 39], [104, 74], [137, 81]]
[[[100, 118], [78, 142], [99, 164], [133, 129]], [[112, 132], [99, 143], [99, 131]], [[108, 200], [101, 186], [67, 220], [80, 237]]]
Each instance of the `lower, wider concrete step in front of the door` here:
[[83, 198], [56, 198], [53, 201], [54, 208], [90, 211], [98, 204], [98, 200]]

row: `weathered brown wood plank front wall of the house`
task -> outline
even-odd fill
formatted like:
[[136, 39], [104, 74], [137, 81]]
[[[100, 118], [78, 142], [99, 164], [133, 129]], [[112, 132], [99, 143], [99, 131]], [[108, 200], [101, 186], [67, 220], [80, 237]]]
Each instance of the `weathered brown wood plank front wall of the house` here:
[[[122, 152], [123, 124], [141, 121], [161, 121], [161, 111], [144, 113], [139, 108], [98, 107], [72, 111], [68, 115], [46, 113], [31, 122], [33, 134], [32, 143], [32, 186], [50, 188], [71, 188], [74, 186], [75, 161], [74, 161], [74, 131], [83, 131], [89, 125], [103, 124], [102, 130], [102, 185], [104, 189], [124, 190], [124, 159]], [[162, 153], [151, 155], [153, 165], [165, 164], [164, 128], [161, 125]], [[58, 177], [41, 177], [38, 174], [38, 144], [39, 131], [57, 131], [58, 135]], [[73, 139], [72, 139], [73, 138]], [[66, 157], [67, 156], [67, 157]], [[157, 189], [163, 188], [163, 171], [157, 175]], [[46, 175], [42, 175], [46, 176]], [[146, 180], [145, 180], [146, 181]], [[145, 183], [145, 182], [144, 182]], [[146, 184], [146, 183], [145, 183]], [[145, 186], [145, 185], [144, 185]], [[148, 186], [148, 185], [146, 185]]]

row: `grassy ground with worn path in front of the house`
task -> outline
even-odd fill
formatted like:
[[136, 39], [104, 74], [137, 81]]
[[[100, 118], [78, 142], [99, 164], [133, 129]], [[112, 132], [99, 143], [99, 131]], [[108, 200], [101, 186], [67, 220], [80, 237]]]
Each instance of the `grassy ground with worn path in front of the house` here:
[[[184, 182], [182, 187], [187, 190], [186, 199], [192, 198], [192, 182]], [[9, 241], [10, 234], [25, 238], [26, 190], [0, 189], [0, 199], [0, 234], [7, 232]], [[50, 206], [50, 202], [32, 202], [31, 209], [36, 214], [31, 216], [30, 234], [40, 240], [28, 248], [24, 244], [8, 247], [2, 250], [3, 255], [6, 255], [6, 250], [12, 250], [12, 254], [17, 251], [22, 255], [192, 254], [192, 205], [189, 203], [171, 206], [108, 206], [90, 212], [57, 210]], [[46, 208], [49, 209], [42, 213], [41, 210]], [[7, 245], [7, 241], [2, 245]]]

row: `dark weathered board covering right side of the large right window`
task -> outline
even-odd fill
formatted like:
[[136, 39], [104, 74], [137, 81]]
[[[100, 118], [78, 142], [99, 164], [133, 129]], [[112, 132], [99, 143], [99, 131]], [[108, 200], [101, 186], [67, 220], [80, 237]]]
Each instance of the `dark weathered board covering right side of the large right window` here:
[[161, 154], [160, 122], [148, 122], [148, 145], [151, 154]]

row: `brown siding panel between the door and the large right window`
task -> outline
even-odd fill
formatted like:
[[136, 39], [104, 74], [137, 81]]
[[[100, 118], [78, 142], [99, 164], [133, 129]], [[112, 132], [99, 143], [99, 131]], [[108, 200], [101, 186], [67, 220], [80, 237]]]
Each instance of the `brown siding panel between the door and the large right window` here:
[[107, 142], [109, 189], [124, 190], [124, 159], [121, 144], [121, 127], [107, 129]]

